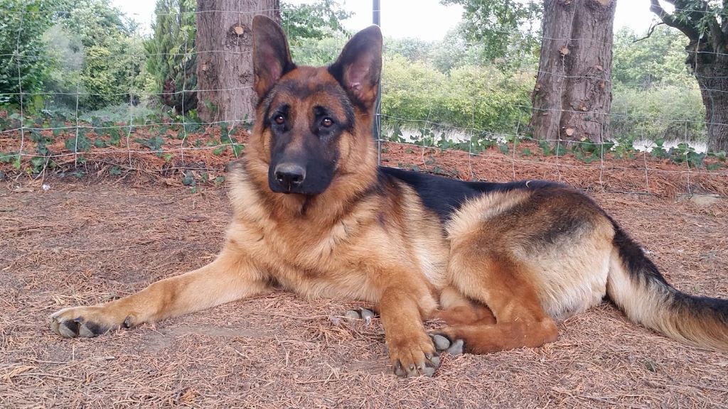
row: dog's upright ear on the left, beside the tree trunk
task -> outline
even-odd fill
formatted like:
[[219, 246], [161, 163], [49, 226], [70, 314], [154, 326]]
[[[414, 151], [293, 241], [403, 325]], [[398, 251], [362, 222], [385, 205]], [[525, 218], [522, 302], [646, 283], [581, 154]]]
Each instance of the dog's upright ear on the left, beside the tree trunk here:
[[264, 98], [280, 77], [294, 68], [280, 25], [263, 15], [253, 17], [253, 87], [258, 98]]

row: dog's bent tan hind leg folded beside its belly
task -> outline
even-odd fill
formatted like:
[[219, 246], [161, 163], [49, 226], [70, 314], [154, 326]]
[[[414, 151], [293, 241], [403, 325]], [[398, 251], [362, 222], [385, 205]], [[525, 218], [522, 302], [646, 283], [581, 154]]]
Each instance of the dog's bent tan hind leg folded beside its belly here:
[[[558, 336], [555, 322], [542, 309], [529, 271], [508, 255], [456, 253], [451, 258], [451, 284], [467, 298], [487, 305], [495, 323], [456, 324], [435, 332], [451, 344], [464, 341], [473, 354], [541, 346]], [[435, 339], [435, 341], [438, 341]], [[451, 348], [442, 344], [438, 349]]]

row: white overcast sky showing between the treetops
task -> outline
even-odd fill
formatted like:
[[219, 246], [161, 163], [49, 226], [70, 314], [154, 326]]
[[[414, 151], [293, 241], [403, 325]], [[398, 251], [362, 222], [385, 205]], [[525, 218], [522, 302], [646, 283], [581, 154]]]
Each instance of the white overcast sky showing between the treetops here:
[[[289, 3], [311, 0], [288, 0]], [[154, 0], [112, 0], [112, 4], [127, 16], [134, 18], [149, 31], [154, 16]], [[439, 0], [380, 0], [381, 30], [384, 36], [395, 38], [416, 37], [432, 41], [442, 39], [445, 33], [460, 20], [462, 9], [443, 6]], [[371, 25], [372, 1], [339, 0], [344, 9], [355, 12], [354, 17], [344, 22], [351, 31], [358, 31]], [[627, 26], [636, 33], [646, 33], [654, 15], [649, 11], [649, 0], [617, 1], [614, 29]]]

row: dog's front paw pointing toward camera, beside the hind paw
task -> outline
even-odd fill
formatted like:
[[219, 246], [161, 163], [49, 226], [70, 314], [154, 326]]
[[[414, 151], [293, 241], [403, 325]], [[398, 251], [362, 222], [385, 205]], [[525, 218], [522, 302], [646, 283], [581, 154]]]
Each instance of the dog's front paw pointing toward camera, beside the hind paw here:
[[425, 333], [416, 338], [387, 341], [389, 360], [395, 375], [403, 378], [432, 376], [440, 365], [440, 355]]

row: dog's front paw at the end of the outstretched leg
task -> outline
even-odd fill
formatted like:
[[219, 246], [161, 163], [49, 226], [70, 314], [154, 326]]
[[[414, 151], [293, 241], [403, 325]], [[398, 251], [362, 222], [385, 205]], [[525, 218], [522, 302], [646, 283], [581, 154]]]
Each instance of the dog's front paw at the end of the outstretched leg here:
[[106, 314], [103, 306], [84, 306], [62, 309], [50, 316], [50, 329], [66, 338], [95, 337], [119, 327], [131, 327], [132, 317]]

